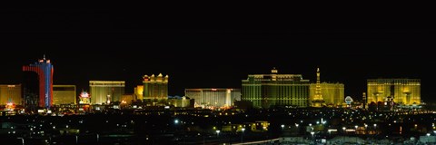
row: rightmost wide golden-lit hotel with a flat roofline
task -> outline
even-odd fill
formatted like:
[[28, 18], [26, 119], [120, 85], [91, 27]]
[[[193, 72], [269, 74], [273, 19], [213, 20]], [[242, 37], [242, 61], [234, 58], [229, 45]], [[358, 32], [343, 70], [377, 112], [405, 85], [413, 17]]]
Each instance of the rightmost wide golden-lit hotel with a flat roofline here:
[[367, 103], [421, 104], [420, 79], [368, 79]]

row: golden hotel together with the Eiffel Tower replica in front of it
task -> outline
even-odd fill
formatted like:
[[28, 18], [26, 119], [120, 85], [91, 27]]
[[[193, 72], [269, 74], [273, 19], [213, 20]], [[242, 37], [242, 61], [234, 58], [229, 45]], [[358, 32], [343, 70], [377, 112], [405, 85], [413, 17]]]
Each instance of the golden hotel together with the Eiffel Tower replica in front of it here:
[[316, 83], [311, 83], [309, 96], [312, 107], [341, 106], [344, 99], [343, 83], [321, 82], [320, 68], [316, 70]]

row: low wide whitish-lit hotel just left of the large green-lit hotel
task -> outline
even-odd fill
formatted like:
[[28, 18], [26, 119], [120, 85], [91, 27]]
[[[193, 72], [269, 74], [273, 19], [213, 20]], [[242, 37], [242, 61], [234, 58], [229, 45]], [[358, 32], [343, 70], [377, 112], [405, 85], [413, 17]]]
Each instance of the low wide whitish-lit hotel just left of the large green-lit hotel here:
[[184, 95], [194, 100], [195, 107], [229, 107], [241, 100], [240, 89], [185, 89]]

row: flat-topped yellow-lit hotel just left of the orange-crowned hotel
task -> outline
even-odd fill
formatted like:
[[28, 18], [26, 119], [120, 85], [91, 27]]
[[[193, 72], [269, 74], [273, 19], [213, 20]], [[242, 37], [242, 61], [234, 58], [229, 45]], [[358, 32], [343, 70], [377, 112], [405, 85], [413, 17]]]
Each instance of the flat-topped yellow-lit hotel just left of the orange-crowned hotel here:
[[124, 81], [89, 81], [91, 103], [108, 104], [121, 102], [124, 95]]

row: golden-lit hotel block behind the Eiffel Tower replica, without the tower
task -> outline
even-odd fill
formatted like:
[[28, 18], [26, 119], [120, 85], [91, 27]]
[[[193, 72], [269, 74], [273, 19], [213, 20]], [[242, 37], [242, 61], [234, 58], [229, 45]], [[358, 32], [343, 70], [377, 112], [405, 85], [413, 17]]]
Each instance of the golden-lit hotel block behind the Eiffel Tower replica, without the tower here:
[[[310, 96], [315, 96], [316, 86], [317, 86], [316, 83], [311, 83]], [[322, 82], [319, 84], [319, 86], [320, 86], [324, 105], [329, 107], [337, 107], [342, 105], [342, 103], [344, 102], [343, 99], [345, 98], [343, 83]], [[312, 98], [310, 100], [312, 100]]]

